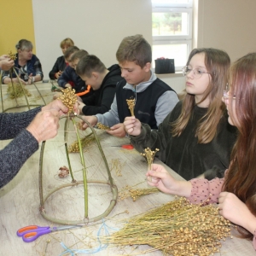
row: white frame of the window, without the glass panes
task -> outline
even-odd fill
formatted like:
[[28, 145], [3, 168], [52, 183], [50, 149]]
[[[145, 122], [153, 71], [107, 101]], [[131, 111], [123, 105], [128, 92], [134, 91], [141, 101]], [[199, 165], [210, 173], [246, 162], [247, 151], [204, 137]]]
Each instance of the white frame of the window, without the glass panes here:
[[[160, 2], [160, 1], [159, 1]], [[188, 3], [177, 3], [175, 0], [168, 2], [172, 3], [156, 3], [152, 0], [152, 14], [153, 13], [168, 13], [168, 12], [180, 12], [188, 13], [188, 34], [183, 36], [153, 36], [152, 34], [152, 44], [187, 44], [187, 58], [192, 50], [192, 21], [193, 21], [193, 0], [188, 0]], [[152, 25], [151, 25], [152, 26]], [[154, 60], [153, 60], [154, 61]], [[185, 65], [185, 63], [184, 63]], [[180, 72], [182, 67], [175, 66], [175, 72]]]

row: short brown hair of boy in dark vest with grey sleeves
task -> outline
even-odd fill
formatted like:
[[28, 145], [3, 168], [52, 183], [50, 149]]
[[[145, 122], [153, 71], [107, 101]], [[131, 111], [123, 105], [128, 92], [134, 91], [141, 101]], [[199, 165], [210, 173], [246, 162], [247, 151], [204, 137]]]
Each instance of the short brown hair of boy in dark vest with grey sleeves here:
[[143, 35], [126, 37], [119, 45], [116, 52], [116, 59], [119, 63], [134, 61], [138, 66], [144, 67], [146, 63], [152, 61], [152, 50]]

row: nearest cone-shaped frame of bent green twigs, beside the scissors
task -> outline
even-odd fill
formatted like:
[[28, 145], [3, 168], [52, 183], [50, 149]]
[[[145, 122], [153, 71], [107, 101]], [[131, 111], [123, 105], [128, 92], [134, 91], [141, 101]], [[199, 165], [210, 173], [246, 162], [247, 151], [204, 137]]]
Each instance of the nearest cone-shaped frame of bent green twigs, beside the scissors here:
[[[94, 128], [90, 125], [90, 123], [88, 123], [86, 120], [84, 120], [84, 122], [86, 122], [86, 124], [90, 127], [90, 130], [92, 131], [92, 133], [94, 134], [95, 138], [96, 138], [96, 143], [97, 146], [102, 154], [102, 159], [104, 160], [105, 166], [107, 168], [107, 172], [108, 172], [108, 181], [98, 181], [98, 180], [87, 180], [86, 179], [86, 174], [85, 174], [85, 165], [84, 165], [84, 154], [83, 154], [83, 149], [81, 148], [81, 144], [79, 143], [79, 151], [80, 151], [80, 157], [81, 157], [81, 162], [82, 165], [84, 166], [84, 181], [76, 181], [73, 178], [73, 174], [72, 174], [72, 166], [68, 157], [68, 150], [67, 150], [67, 122], [69, 119], [72, 119], [73, 123], [74, 123], [74, 117], [77, 117], [79, 119], [82, 119], [81, 116], [74, 116], [73, 114], [69, 114], [69, 116], [62, 116], [62, 118], [66, 118], [66, 123], [65, 123], [65, 133], [64, 133], [64, 140], [65, 140], [65, 148], [66, 148], [66, 154], [67, 154], [67, 161], [68, 161], [68, 166], [70, 168], [71, 171], [71, 177], [72, 177], [72, 182], [71, 183], [67, 183], [67, 184], [63, 184], [53, 190], [51, 190], [49, 192], [48, 195], [44, 196], [44, 191], [43, 191], [43, 158], [44, 158], [44, 146], [45, 146], [45, 142], [42, 143], [42, 148], [41, 148], [41, 153], [40, 153], [40, 160], [39, 160], [39, 197], [40, 197], [40, 208], [39, 211], [41, 213], [41, 215], [46, 218], [49, 221], [52, 221], [56, 224], [89, 224], [92, 222], [96, 222], [98, 220], [102, 220], [102, 218], [105, 218], [106, 216], [108, 216], [108, 214], [113, 210], [113, 207], [115, 206], [117, 199], [118, 199], [118, 189], [116, 187], [116, 185], [113, 183], [113, 178], [111, 176], [110, 170], [109, 170], [109, 166], [108, 166], [108, 162], [107, 159], [105, 157], [105, 154], [103, 153], [102, 150], [102, 146], [99, 142], [99, 139], [96, 135], [96, 131], [94, 130]], [[79, 137], [79, 133], [76, 130], [77, 136]], [[60, 189], [64, 189], [66, 187], [72, 187], [72, 186], [77, 186], [81, 183], [84, 183], [84, 219], [80, 219], [80, 220], [66, 220], [66, 219], [59, 219], [59, 218], [52, 218], [50, 217], [44, 209], [44, 203], [47, 201], [47, 199], [49, 198], [50, 195], [54, 194], [56, 191], [60, 190]], [[109, 206], [107, 208], [107, 210], [105, 212], [103, 212], [101, 215], [96, 216], [95, 218], [89, 218], [88, 217], [88, 205], [86, 206], [86, 204], [88, 204], [88, 200], [86, 199], [86, 197], [88, 198], [87, 195], [87, 183], [101, 183], [101, 184], [106, 184], [110, 186], [111, 192], [113, 194], [113, 198], [109, 203]]]

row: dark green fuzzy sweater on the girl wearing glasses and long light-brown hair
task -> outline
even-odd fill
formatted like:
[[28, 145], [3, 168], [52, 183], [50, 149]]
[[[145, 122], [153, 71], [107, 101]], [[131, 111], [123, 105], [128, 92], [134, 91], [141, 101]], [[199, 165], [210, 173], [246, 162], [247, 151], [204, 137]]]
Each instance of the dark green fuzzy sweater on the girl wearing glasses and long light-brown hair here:
[[159, 125], [158, 131], [142, 126], [139, 136], [131, 136], [131, 143], [139, 152], [144, 148], [159, 148], [156, 154], [173, 171], [189, 180], [207, 173], [207, 178], [223, 177], [230, 163], [230, 153], [236, 142], [236, 127], [228, 123], [227, 113], [219, 120], [218, 131], [210, 143], [198, 143], [195, 130], [198, 121], [207, 113], [207, 108], [195, 106], [188, 125], [179, 137], [172, 137], [171, 123], [181, 113], [182, 102], [178, 102], [172, 112]]

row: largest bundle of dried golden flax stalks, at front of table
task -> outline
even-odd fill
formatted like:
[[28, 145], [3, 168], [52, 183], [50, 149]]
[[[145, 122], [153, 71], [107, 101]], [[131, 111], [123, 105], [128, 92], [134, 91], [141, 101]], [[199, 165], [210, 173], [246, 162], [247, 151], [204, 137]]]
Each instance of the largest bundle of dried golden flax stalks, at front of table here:
[[[127, 222], [127, 220], [126, 220]], [[185, 198], [131, 218], [125, 227], [101, 241], [119, 246], [149, 245], [144, 253], [161, 250], [165, 255], [211, 255], [220, 240], [230, 236], [230, 221], [213, 205], [191, 205]]]

